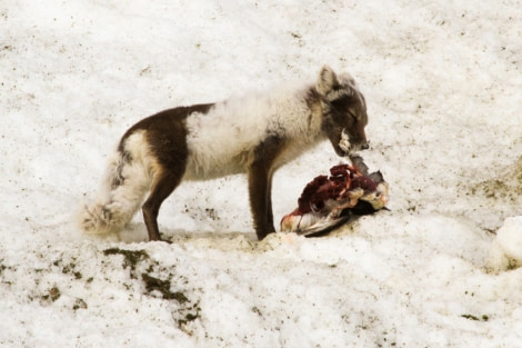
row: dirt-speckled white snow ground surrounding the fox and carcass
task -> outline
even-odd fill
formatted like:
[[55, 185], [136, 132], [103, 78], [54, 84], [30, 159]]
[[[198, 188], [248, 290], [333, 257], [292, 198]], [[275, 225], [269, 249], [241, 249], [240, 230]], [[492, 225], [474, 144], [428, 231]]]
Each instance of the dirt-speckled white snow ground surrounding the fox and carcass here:
[[[0, 345], [516, 347], [519, 1], [3, 1]], [[72, 222], [128, 127], [331, 64], [369, 106], [391, 211], [255, 241], [242, 176], [183, 183], [144, 242]], [[274, 178], [277, 219], [338, 163]]]

